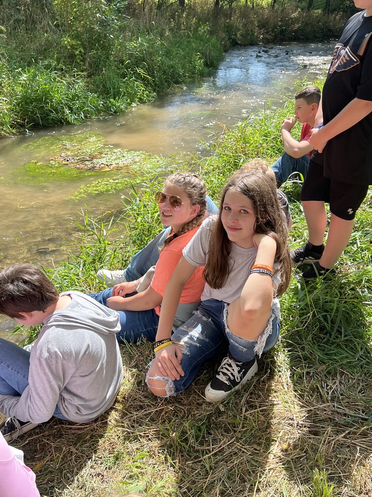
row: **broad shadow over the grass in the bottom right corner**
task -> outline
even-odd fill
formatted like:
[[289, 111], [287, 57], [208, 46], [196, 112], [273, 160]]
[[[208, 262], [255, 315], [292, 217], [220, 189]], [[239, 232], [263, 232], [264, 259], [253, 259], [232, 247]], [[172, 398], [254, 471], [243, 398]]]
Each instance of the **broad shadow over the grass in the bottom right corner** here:
[[297, 407], [280, 464], [301, 495], [372, 495], [371, 284], [371, 268], [301, 281], [282, 308]]

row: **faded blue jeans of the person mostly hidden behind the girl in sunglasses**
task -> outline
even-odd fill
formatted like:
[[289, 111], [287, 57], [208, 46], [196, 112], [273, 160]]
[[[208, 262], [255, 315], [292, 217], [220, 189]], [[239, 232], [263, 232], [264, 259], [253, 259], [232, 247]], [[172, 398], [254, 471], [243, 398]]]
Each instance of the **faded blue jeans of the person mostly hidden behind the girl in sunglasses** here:
[[[218, 214], [216, 204], [208, 195], [206, 196], [206, 200], [208, 214]], [[155, 266], [159, 259], [159, 247], [163, 247], [164, 240], [168, 235], [169, 227], [165, 226], [164, 230], [151, 240], [145, 248], [142, 248], [142, 250], [133, 255], [128, 267], [124, 269], [126, 281], [134, 281], [140, 278], [147, 273], [150, 267]]]

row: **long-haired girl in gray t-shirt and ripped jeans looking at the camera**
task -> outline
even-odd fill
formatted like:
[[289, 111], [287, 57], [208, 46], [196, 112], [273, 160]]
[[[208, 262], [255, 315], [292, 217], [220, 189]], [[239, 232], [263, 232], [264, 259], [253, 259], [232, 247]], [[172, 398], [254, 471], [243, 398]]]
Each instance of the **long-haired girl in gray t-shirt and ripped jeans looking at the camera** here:
[[[194, 315], [172, 333], [179, 296], [197, 267], [206, 285]], [[162, 302], [155, 359], [147, 374], [160, 397], [183, 391], [207, 359], [229, 350], [205, 389], [218, 402], [257, 371], [256, 355], [279, 336], [279, 301], [291, 277], [288, 228], [270, 175], [242, 168], [230, 178], [220, 213], [183, 250]]]

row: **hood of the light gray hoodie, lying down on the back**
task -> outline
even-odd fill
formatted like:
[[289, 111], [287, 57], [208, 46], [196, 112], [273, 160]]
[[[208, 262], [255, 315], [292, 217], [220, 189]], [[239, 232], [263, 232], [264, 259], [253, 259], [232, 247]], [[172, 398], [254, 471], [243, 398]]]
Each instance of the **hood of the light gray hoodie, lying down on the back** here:
[[44, 327], [53, 316], [53, 326], [66, 327], [71, 323], [71, 327], [83, 330], [94, 331], [102, 335], [110, 335], [121, 330], [119, 314], [113, 309], [103, 306], [91, 297], [80, 292], [63, 292], [60, 294], [69, 295], [71, 302], [64, 308], [53, 312], [44, 320]]

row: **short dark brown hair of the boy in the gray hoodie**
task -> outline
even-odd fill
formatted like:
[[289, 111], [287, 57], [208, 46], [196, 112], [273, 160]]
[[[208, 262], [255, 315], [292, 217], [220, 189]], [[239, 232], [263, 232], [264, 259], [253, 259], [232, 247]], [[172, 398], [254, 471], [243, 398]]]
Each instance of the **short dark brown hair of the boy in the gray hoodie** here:
[[0, 271], [0, 314], [24, 319], [20, 312], [45, 311], [58, 298], [57, 288], [38, 267], [14, 264]]

